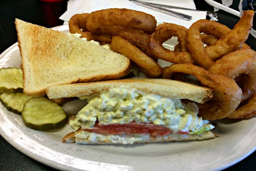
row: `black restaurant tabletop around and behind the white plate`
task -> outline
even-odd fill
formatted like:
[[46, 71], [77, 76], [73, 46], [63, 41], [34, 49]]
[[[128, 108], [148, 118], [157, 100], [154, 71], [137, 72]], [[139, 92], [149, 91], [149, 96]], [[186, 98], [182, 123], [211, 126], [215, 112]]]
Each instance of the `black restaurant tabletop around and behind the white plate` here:
[[[246, 0], [244, 0], [247, 2]], [[220, 1], [221, 2], [221, 1]], [[238, 7], [239, 0], [233, 0], [233, 7]], [[197, 9], [213, 11], [213, 7], [208, 6], [203, 0], [195, 0]], [[245, 4], [246, 6], [246, 4]], [[54, 27], [63, 24], [59, 16], [67, 10], [67, 1], [63, 0], [58, 3], [46, 3], [40, 0], [1, 0], [0, 1], [0, 53], [9, 46], [17, 42], [17, 33], [15, 30], [14, 20], [19, 18], [33, 24], [45, 27]], [[230, 13], [219, 10], [217, 11], [219, 22], [229, 28], [239, 20]], [[208, 18], [209, 19], [209, 18]], [[254, 25], [255, 16], [254, 16]], [[253, 50], [256, 50], [256, 39], [249, 36], [247, 44]], [[256, 142], [255, 142], [256, 143]], [[192, 169], [192, 168], [191, 168]], [[195, 169], [195, 168], [193, 168]], [[242, 160], [241, 162], [225, 169], [226, 171], [243, 170], [250, 171], [256, 169], [256, 152]], [[21, 153], [10, 145], [2, 136], [0, 136], [0, 170], [1, 171], [49, 171], [56, 170]]]

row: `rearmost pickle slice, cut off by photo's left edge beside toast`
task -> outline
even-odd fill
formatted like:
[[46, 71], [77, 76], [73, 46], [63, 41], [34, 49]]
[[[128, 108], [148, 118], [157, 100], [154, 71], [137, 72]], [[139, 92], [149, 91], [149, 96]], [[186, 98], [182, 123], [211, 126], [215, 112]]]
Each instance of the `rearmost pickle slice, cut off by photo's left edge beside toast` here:
[[0, 93], [23, 92], [23, 78], [20, 68], [1, 68], [0, 80]]

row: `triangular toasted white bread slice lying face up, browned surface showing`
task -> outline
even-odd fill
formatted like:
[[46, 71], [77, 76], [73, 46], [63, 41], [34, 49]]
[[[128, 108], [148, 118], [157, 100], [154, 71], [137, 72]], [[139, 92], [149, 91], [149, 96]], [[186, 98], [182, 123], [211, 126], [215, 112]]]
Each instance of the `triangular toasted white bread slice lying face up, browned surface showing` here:
[[130, 59], [73, 35], [15, 20], [24, 92], [45, 95], [53, 85], [119, 79]]

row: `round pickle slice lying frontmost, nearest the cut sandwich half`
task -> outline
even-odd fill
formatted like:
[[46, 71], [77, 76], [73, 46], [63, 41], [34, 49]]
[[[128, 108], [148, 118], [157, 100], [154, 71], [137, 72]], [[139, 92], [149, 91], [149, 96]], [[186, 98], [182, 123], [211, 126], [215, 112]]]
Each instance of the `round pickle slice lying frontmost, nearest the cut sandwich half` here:
[[39, 131], [58, 129], [67, 123], [63, 108], [45, 97], [26, 101], [21, 116], [26, 127]]

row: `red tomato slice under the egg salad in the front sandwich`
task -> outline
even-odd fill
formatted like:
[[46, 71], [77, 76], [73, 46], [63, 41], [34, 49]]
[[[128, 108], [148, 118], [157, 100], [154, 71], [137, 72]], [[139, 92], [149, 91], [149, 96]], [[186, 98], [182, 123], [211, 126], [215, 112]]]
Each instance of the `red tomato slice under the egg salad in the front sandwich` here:
[[[94, 128], [84, 129], [88, 132], [96, 132], [100, 134], [148, 134], [152, 136], [163, 136], [171, 133], [172, 131], [163, 125], [154, 125], [154, 123], [136, 123], [132, 121], [124, 124], [99, 124], [96, 121]], [[188, 132], [178, 131], [178, 134], [188, 134]]]

